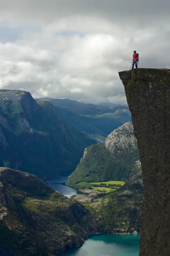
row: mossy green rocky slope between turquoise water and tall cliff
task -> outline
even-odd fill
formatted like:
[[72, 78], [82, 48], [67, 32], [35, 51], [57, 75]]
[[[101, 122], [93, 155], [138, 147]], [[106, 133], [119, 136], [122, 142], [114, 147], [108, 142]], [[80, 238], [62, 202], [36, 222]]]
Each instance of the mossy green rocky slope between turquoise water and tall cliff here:
[[143, 197], [143, 179], [140, 171], [127, 180], [122, 188], [86, 205], [98, 218], [101, 232], [139, 234]]

